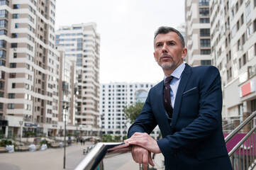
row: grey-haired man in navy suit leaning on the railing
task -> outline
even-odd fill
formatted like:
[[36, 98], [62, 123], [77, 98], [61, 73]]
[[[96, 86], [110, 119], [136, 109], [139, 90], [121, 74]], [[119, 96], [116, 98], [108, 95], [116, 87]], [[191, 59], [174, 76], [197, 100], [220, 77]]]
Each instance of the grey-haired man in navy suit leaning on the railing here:
[[[165, 169], [232, 169], [221, 125], [220, 74], [213, 66], [184, 64], [184, 46], [174, 28], [155, 32], [154, 57], [165, 80], [150, 89], [125, 142], [132, 145], [133, 159], [144, 169], [148, 163], [154, 165], [151, 153], [164, 155]], [[156, 125], [162, 133], [157, 141], [149, 135]]]

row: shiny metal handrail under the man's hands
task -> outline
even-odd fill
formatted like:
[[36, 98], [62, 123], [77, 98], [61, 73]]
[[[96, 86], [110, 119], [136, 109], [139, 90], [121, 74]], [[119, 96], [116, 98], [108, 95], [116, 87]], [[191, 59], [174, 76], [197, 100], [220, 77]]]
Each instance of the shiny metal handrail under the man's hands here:
[[[124, 154], [130, 151], [130, 145], [122, 142], [100, 142], [94, 146], [75, 170], [104, 170], [103, 159], [111, 154]], [[140, 164], [143, 170], [143, 164]]]

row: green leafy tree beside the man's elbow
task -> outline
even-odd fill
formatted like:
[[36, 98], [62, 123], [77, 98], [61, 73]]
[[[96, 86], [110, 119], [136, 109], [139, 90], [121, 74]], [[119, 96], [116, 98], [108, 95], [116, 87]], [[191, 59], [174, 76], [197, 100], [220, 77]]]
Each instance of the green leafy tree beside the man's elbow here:
[[127, 120], [130, 121], [130, 123], [133, 123], [135, 119], [138, 117], [140, 112], [143, 110], [144, 103], [138, 102], [134, 103], [131, 106], [126, 106], [123, 108], [123, 113]]

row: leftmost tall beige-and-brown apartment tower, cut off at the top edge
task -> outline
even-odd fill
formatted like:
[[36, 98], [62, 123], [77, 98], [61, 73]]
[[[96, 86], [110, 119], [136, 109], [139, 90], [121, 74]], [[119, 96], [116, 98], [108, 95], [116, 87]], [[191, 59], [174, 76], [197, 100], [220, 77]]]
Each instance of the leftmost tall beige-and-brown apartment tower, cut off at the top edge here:
[[35, 128], [48, 133], [43, 126], [56, 125], [59, 114], [55, 0], [0, 1], [0, 13], [0, 117], [8, 121], [5, 130], [18, 134], [23, 126], [23, 134]]

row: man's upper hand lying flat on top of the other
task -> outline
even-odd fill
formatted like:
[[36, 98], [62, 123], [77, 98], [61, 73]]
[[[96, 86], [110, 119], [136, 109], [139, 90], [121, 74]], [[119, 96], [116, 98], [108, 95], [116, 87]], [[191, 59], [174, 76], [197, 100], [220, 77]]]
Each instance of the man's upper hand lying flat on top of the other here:
[[150, 137], [148, 133], [135, 132], [132, 137], [124, 142], [129, 143], [130, 145], [138, 145], [155, 154], [161, 153], [157, 141]]

